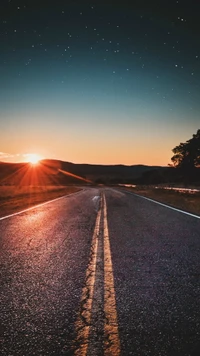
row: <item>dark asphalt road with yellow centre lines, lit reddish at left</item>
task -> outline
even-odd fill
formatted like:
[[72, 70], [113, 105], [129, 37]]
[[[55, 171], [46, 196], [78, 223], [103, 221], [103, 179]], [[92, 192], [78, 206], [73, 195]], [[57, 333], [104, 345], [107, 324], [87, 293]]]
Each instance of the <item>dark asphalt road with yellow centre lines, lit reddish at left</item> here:
[[0, 355], [193, 356], [200, 219], [110, 188], [0, 220]]

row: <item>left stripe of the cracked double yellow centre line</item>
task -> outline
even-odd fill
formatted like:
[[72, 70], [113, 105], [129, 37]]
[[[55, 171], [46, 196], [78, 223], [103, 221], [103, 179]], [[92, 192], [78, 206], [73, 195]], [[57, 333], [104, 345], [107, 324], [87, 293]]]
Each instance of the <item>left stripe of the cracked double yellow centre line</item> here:
[[86, 271], [86, 282], [82, 290], [81, 310], [75, 325], [77, 335], [76, 343], [78, 343], [78, 348], [75, 350], [74, 354], [78, 356], [86, 356], [89, 346], [89, 332], [91, 327], [92, 302], [96, 277], [97, 248], [98, 237], [100, 232], [101, 211], [102, 198], [100, 201], [100, 208], [97, 213], [94, 233], [92, 237], [90, 262]]

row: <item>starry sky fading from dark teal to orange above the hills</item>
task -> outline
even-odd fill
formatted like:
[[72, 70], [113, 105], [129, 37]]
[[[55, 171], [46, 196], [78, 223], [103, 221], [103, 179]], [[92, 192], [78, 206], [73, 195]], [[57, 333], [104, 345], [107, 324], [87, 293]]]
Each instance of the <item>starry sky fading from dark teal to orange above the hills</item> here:
[[0, 161], [170, 163], [200, 127], [199, 13], [196, 0], [1, 0]]

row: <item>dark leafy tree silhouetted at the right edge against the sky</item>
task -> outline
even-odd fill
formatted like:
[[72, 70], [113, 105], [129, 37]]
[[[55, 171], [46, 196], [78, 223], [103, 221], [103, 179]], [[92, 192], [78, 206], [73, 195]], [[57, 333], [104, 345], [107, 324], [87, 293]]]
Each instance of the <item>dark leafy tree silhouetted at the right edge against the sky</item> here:
[[192, 172], [200, 167], [200, 129], [191, 139], [174, 147], [172, 152], [174, 156], [171, 160], [174, 167], [185, 172]]

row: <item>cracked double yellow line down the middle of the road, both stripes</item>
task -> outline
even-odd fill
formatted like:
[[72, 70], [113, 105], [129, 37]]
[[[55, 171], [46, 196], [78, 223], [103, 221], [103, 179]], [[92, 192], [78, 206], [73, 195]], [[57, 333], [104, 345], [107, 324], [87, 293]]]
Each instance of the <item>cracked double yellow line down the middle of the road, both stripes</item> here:
[[[120, 339], [117, 322], [116, 298], [112, 258], [107, 221], [107, 205], [105, 195], [101, 196], [100, 209], [97, 213], [96, 223], [92, 238], [90, 261], [86, 271], [86, 282], [82, 290], [81, 308], [76, 321], [76, 356], [86, 356], [88, 348], [92, 350], [90, 332], [92, 325], [92, 305], [94, 299], [95, 281], [97, 278], [97, 255], [99, 239], [103, 237], [103, 262], [104, 262], [104, 338], [103, 349], [105, 356], [120, 355]], [[90, 351], [92, 354], [92, 351]]]

